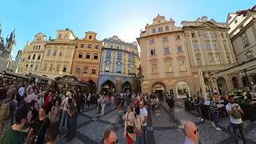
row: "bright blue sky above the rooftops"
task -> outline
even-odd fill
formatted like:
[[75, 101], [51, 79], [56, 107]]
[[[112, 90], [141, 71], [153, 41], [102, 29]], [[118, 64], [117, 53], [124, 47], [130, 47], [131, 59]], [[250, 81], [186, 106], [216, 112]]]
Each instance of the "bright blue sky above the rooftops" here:
[[15, 58], [38, 32], [55, 38], [56, 30], [70, 28], [83, 38], [84, 32], [92, 30], [101, 40], [118, 35], [134, 42], [157, 14], [173, 18], [177, 26], [182, 20], [202, 15], [226, 22], [228, 13], [255, 4], [255, 0], [5, 0], [1, 2], [0, 22], [4, 38], [16, 29]]

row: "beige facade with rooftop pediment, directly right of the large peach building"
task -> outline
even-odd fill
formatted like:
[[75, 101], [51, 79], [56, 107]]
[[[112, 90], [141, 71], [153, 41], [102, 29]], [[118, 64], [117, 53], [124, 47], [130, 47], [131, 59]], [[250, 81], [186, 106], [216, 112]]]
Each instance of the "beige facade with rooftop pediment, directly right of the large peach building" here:
[[233, 89], [231, 80], [236, 75], [226, 74], [211, 78], [215, 72], [226, 70], [237, 63], [226, 23], [215, 22], [213, 18], [208, 20], [203, 16], [195, 21], [182, 21], [182, 29], [190, 55], [193, 82], [198, 82], [196, 79], [203, 77], [194, 89], [201, 89], [203, 93], [216, 89], [219, 94]]

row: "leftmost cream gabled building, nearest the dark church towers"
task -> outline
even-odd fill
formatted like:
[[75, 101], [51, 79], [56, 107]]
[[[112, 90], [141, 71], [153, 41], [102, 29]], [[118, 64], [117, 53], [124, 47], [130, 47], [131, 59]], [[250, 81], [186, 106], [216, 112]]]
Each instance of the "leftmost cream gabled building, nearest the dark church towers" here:
[[34, 35], [32, 42], [26, 42], [18, 62], [18, 74], [39, 74], [45, 52], [46, 35], [38, 33]]

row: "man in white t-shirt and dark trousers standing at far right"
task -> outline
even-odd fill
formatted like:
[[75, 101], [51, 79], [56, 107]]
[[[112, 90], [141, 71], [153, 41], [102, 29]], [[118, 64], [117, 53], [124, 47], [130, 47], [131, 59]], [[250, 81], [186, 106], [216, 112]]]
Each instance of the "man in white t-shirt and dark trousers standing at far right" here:
[[234, 102], [234, 96], [230, 97], [230, 103], [226, 105], [226, 112], [230, 115], [230, 122], [231, 126], [234, 130], [234, 142], [238, 144], [238, 130], [242, 137], [242, 142], [245, 144], [246, 139], [243, 133], [243, 126], [242, 126], [242, 115], [244, 114], [243, 110], [240, 106]]

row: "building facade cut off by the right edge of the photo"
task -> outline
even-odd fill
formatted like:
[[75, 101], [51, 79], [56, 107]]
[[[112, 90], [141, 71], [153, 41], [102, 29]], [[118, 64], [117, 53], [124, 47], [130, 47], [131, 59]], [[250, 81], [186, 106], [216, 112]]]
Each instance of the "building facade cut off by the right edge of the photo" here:
[[230, 73], [239, 73], [240, 86], [254, 86], [256, 84], [256, 6], [228, 14], [226, 26], [230, 28], [228, 32], [239, 64], [239, 70], [230, 70]]

